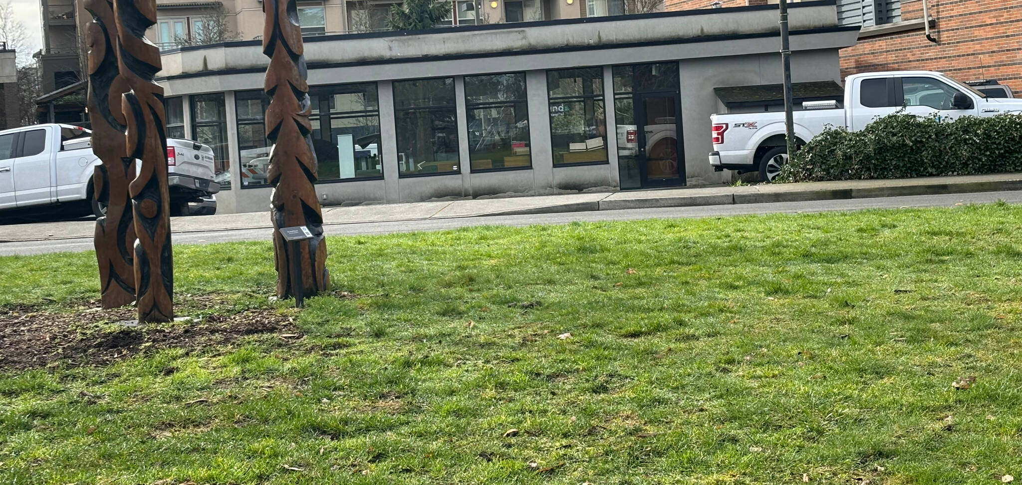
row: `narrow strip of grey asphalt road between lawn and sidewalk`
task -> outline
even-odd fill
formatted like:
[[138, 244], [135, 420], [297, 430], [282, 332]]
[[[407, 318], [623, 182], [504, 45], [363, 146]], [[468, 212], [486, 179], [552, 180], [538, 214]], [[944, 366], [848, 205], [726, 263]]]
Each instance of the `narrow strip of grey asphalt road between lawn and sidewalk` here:
[[[959, 204], [995, 202], [1022, 202], [1022, 191], [982, 192], [974, 194], [919, 195], [911, 197], [885, 197], [874, 199], [820, 200], [810, 202], [776, 202], [763, 204], [705, 205], [699, 207], [666, 207], [635, 210], [601, 210], [590, 212], [564, 212], [530, 215], [489, 215], [477, 217], [430, 219], [385, 223], [332, 224], [325, 226], [332, 236], [407, 233], [415, 231], [442, 231], [469, 226], [529, 226], [533, 224], [567, 224], [575, 221], [636, 221], [644, 219], [716, 217], [726, 215], [821, 212], [857, 210], [866, 208], [899, 207], [953, 207]], [[27, 229], [31, 225], [26, 225]], [[265, 241], [271, 230], [240, 229], [174, 233], [175, 244], [206, 244], [229, 241]], [[45, 254], [60, 251], [87, 251], [92, 249], [91, 238], [57, 239], [0, 243], [0, 255]]]

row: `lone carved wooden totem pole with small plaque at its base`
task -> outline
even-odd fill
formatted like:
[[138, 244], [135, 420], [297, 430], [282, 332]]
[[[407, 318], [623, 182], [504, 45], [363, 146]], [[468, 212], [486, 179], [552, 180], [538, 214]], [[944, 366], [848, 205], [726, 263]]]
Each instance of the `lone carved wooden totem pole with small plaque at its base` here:
[[[263, 53], [270, 58], [264, 89], [270, 97], [266, 110], [266, 136], [273, 142], [268, 178], [273, 186], [270, 217], [273, 221], [273, 254], [277, 264], [277, 296], [295, 294], [290, 275], [298, 258], [303, 294], [315, 295], [330, 288], [326, 270], [323, 212], [316, 198], [317, 162], [313, 150], [312, 103], [306, 83], [306, 59], [295, 0], [265, 0]], [[281, 236], [281, 228], [306, 226], [312, 239], [292, 250]]]

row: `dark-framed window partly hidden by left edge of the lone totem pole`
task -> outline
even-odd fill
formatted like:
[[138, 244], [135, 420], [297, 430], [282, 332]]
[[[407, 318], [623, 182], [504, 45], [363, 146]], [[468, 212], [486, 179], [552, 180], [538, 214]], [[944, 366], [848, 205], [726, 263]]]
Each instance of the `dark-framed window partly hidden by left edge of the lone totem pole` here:
[[234, 93], [242, 188], [269, 185], [270, 142], [266, 138], [264, 123], [269, 104], [270, 99], [262, 90]]

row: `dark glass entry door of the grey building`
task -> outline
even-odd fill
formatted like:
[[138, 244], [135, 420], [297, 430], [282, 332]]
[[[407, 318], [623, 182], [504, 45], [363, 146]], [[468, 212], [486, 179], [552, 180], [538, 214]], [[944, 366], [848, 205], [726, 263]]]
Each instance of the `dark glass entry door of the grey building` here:
[[678, 156], [678, 96], [636, 95], [638, 162], [643, 187], [682, 185], [685, 167]]

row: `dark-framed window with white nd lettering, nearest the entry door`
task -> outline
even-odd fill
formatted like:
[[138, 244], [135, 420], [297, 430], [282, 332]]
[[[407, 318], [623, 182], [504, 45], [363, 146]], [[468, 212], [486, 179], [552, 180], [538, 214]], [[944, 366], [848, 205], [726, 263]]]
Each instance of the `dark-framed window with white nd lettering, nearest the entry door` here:
[[607, 161], [603, 68], [547, 71], [554, 164]]

